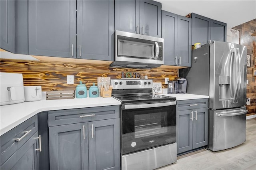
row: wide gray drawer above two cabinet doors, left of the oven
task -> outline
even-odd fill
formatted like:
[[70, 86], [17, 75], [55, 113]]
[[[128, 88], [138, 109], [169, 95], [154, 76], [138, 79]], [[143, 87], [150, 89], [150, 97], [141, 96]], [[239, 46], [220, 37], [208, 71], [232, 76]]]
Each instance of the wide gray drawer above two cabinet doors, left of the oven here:
[[48, 112], [49, 127], [119, 118], [120, 106], [90, 107], [81, 109], [66, 109]]

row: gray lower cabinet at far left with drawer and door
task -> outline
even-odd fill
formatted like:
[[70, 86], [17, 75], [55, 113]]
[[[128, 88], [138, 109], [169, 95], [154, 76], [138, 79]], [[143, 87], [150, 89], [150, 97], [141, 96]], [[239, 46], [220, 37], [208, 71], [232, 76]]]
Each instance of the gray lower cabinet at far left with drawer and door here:
[[1, 170], [38, 170], [40, 136], [37, 115], [3, 134]]

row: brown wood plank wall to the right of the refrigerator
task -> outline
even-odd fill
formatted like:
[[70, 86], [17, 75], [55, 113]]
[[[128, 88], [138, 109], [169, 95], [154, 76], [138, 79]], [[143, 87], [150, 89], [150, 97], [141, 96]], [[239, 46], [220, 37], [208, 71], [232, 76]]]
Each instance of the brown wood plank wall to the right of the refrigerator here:
[[[256, 19], [234, 27], [236, 30], [240, 30], [240, 44], [247, 47], [247, 53], [252, 54], [251, 67], [247, 67], [247, 79], [248, 84], [246, 88], [246, 97], [251, 98], [249, 106], [246, 106], [248, 110], [247, 115], [256, 114], [256, 77], [252, 76], [252, 69], [256, 69], [254, 65], [255, 47], [253, 48], [253, 42], [256, 42]], [[253, 55], [254, 54], [254, 55]]]

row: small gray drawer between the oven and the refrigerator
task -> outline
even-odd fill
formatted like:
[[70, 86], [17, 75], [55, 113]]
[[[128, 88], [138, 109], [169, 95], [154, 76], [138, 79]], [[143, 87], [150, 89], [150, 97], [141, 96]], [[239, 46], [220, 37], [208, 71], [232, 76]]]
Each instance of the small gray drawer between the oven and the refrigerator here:
[[183, 110], [198, 109], [203, 107], [208, 107], [208, 99], [177, 101], [176, 110], [183, 111]]

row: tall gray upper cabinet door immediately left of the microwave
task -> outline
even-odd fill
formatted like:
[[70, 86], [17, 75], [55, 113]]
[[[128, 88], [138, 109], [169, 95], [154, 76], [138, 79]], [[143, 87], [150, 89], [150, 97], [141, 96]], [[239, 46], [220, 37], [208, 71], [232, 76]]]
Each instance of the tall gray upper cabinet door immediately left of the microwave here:
[[114, 1], [77, 1], [77, 58], [114, 60]]

